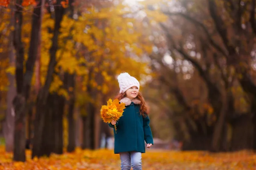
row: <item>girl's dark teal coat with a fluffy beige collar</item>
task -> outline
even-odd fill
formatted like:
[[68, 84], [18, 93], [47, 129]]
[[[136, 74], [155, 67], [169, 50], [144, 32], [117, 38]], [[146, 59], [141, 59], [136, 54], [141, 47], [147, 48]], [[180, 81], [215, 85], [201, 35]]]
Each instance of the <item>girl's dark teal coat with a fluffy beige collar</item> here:
[[[125, 103], [123, 115], [116, 122], [116, 131], [114, 131], [114, 153], [136, 151], [145, 153], [145, 142], [154, 144], [149, 127], [148, 116], [140, 115], [140, 101], [128, 98], [121, 99]], [[114, 127], [109, 123], [110, 127]], [[145, 142], [144, 142], [145, 141]]]

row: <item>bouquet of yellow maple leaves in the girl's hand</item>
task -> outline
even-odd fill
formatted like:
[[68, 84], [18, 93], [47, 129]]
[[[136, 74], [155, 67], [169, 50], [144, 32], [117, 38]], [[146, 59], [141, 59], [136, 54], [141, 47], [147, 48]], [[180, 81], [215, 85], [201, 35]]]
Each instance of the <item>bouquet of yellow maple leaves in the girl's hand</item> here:
[[120, 104], [118, 99], [114, 99], [113, 102], [111, 99], [109, 99], [107, 103], [108, 105], [102, 105], [100, 110], [100, 115], [103, 119], [103, 122], [110, 123], [112, 119], [115, 121], [119, 120], [119, 118], [122, 116], [122, 113], [124, 112], [125, 104]]

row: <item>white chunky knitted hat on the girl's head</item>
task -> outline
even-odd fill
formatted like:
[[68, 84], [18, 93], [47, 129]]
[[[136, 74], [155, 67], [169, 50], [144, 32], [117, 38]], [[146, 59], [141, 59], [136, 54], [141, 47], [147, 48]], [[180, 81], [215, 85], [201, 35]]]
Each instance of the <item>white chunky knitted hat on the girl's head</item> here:
[[139, 81], [136, 78], [131, 77], [128, 73], [119, 74], [117, 80], [119, 83], [120, 94], [123, 94], [125, 91], [127, 91], [129, 88], [133, 86], [137, 86], [138, 89], [140, 89]]

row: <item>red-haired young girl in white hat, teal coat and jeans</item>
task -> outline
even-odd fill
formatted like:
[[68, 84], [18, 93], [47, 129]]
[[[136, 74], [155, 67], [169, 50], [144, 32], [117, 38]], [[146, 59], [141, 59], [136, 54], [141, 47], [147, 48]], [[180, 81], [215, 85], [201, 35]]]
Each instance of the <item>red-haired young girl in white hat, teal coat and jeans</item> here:
[[[125, 110], [119, 121], [112, 120], [110, 127], [114, 129], [114, 153], [119, 153], [121, 170], [142, 170], [141, 153], [153, 145], [151, 128], [149, 127], [148, 108], [140, 94], [140, 83], [128, 73], [118, 77], [120, 92], [116, 96], [119, 102], [125, 103]], [[145, 142], [144, 142], [145, 140]]]

